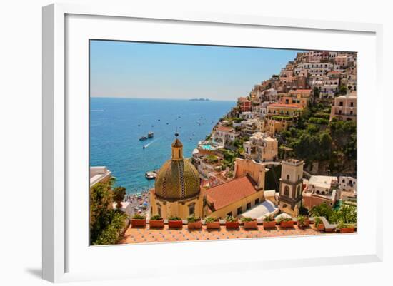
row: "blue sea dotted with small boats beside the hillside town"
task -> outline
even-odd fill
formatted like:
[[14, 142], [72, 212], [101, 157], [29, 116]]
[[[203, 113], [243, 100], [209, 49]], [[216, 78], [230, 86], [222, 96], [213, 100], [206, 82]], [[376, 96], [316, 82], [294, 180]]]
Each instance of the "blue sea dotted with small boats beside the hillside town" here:
[[[91, 97], [90, 165], [109, 168], [127, 194], [141, 193], [154, 186], [145, 173], [171, 157], [176, 132], [189, 158], [233, 106], [234, 101]], [[139, 141], [149, 131], [154, 137]]]

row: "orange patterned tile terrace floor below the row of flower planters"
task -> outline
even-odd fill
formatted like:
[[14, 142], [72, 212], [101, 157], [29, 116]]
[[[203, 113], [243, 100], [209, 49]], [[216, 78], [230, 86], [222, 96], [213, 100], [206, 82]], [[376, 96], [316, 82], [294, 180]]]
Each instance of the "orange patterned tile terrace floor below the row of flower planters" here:
[[264, 230], [262, 225], [256, 230], [244, 230], [241, 226], [238, 230], [227, 230], [224, 225], [219, 230], [207, 230], [204, 226], [202, 230], [189, 230], [186, 225], [181, 229], [169, 229], [165, 225], [162, 229], [149, 228], [128, 228], [124, 234], [122, 244], [128, 243], [148, 243], [148, 242], [176, 242], [176, 241], [193, 241], [193, 240], [225, 240], [237, 238], [267, 238], [280, 237], [287, 235], [322, 235], [327, 234], [315, 230], [314, 228], [299, 229], [279, 228]]

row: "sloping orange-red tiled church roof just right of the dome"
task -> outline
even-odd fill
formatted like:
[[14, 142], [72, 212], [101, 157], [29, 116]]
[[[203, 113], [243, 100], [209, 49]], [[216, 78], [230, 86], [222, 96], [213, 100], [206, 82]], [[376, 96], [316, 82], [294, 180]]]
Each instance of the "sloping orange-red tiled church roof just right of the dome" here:
[[234, 180], [229, 180], [226, 183], [216, 185], [212, 188], [204, 190], [209, 203], [214, 203], [214, 208], [219, 210], [227, 205], [237, 202], [242, 198], [257, 193], [255, 190], [257, 183], [245, 175]]

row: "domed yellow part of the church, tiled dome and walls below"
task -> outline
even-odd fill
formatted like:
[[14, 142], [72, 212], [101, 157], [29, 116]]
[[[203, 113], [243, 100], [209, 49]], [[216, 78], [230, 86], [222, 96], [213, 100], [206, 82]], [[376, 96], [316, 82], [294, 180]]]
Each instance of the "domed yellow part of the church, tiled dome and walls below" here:
[[[176, 137], [179, 134], [176, 133]], [[171, 160], [159, 169], [154, 189], [151, 190], [151, 215], [163, 218], [189, 215], [202, 217], [203, 199], [199, 173], [190, 160], [183, 158], [183, 144], [176, 138], [172, 143]]]

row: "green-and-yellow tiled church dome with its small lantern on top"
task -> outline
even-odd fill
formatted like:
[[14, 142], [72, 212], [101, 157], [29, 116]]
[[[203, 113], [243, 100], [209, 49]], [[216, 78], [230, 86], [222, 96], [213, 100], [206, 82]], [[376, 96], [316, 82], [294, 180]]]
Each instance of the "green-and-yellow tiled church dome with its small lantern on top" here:
[[178, 138], [172, 143], [172, 158], [159, 169], [155, 194], [164, 200], [184, 200], [199, 195], [199, 173], [183, 158], [183, 145]]

